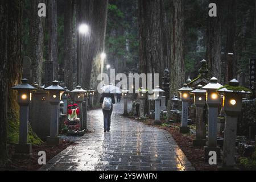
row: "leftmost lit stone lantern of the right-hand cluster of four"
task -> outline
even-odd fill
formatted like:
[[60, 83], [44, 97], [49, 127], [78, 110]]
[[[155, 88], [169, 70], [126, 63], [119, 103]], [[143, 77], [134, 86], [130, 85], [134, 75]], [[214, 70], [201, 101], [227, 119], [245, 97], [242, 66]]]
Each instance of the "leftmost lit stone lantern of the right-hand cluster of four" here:
[[193, 89], [189, 88], [187, 84], [183, 85], [183, 88], [178, 90], [180, 92], [180, 98], [182, 101], [182, 115], [181, 115], [181, 127], [180, 133], [189, 133], [188, 127], [188, 102], [190, 101], [189, 92]]

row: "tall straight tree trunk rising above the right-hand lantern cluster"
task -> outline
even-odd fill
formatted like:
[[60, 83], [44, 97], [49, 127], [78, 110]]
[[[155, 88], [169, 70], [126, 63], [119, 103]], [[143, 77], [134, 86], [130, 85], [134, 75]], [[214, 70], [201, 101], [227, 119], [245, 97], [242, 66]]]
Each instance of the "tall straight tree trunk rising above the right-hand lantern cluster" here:
[[221, 0], [209, 1], [216, 3], [217, 17], [208, 17], [207, 22], [207, 54], [210, 77], [221, 78]]

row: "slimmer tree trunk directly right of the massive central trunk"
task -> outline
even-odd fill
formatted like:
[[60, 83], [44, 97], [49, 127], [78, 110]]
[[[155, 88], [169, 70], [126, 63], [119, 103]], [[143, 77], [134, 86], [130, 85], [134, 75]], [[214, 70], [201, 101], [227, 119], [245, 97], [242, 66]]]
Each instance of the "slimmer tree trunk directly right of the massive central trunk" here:
[[171, 1], [171, 63], [170, 97], [185, 81], [183, 0]]

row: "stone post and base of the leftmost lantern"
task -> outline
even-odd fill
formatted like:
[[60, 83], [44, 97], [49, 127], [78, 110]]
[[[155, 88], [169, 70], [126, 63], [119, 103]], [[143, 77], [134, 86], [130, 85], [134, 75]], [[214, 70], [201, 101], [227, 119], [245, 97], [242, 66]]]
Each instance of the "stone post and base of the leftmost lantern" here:
[[19, 144], [15, 145], [16, 154], [31, 154], [31, 144], [27, 143], [28, 136], [28, 105], [20, 105], [19, 110]]

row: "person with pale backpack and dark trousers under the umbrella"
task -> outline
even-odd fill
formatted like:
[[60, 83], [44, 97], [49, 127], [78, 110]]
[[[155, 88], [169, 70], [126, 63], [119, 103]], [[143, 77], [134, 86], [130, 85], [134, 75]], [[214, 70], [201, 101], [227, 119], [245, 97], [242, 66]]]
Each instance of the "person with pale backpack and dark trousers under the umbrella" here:
[[113, 112], [113, 104], [115, 104], [115, 97], [113, 93], [103, 93], [100, 99], [102, 104], [102, 112], [104, 115], [104, 132], [110, 131], [111, 115]]

